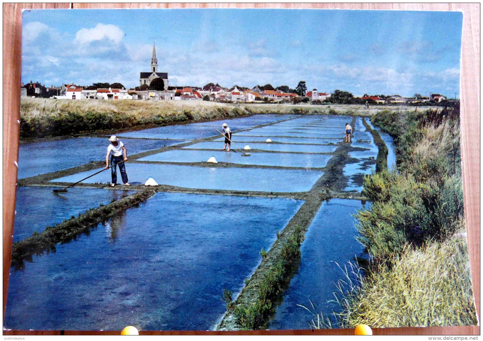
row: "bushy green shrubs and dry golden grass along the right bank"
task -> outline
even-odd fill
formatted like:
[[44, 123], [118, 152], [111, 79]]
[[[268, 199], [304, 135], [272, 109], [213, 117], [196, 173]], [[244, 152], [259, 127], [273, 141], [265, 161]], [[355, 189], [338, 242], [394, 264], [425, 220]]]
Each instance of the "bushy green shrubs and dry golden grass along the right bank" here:
[[[465, 232], [459, 109], [378, 113], [395, 137], [398, 172], [364, 179], [369, 210], [356, 214], [373, 261], [339, 283], [339, 327], [475, 325]], [[352, 279], [351, 279], [352, 278]], [[328, 327], [317, 315], [313, 327]]]

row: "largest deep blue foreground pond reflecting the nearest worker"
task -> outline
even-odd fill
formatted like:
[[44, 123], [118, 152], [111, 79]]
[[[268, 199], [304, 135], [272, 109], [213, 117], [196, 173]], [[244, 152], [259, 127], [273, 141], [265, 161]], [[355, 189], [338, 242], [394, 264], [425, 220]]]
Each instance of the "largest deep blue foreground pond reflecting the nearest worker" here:
[[4, 327], [207, 330], [225, 313], [292, 199], [157, 193], [89, 235], [12, 271]]

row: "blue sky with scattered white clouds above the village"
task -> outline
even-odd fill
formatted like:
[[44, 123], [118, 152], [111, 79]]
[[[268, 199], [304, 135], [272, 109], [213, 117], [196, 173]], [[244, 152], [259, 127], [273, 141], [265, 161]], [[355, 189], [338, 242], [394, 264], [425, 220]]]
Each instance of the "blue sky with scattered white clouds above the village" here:
[[170, 85], [297, 86], [459, 97], [459, 12], [32, 10], [22, 82], [139, 85], [156, 42]]

